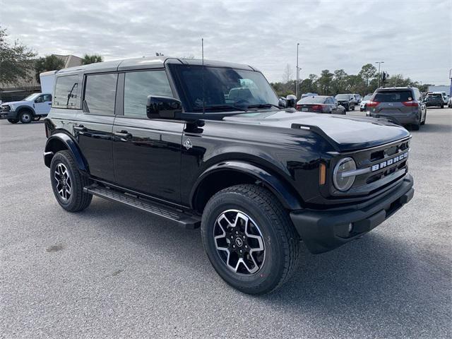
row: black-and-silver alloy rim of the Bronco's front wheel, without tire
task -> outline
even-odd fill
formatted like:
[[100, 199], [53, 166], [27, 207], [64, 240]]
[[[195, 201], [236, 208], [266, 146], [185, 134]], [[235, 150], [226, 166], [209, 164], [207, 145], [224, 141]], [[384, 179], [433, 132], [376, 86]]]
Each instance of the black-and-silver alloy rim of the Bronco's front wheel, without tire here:
[[261, 270], [266, 249], [261, 230], [249, 215], [240, 210], [220, 213], [213, 229], [213, 240], [222, 263], [239, 275]]

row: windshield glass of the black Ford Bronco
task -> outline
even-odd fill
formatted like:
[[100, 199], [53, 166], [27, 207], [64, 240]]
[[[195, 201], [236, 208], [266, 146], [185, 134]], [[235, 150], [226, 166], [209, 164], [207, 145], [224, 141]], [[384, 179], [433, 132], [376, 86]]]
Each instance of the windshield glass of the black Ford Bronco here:
[[[278, 106], [278, 97], [257, 71], [222, 67], [169, 65], [182, 86], [186, 112], [237, 110], [248, 107]], [[203, 91], [204, 89], [204, 91]]]

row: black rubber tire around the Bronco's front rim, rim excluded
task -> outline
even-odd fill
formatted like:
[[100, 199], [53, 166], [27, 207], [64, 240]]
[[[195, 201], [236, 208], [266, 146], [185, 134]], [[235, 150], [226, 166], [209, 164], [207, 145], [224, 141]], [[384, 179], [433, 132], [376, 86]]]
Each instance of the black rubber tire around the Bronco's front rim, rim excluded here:
[[[231, 269], [215, 244], [217, 222], [225, 211], [231, 210], [244, 213], [261, 233], [265, 260], [256, 273], [239, 274]], [[297, 231], [278, 198], [263, 187], [240, 184], [215, 194], [203, 211], [201, 234], [206, 254], [217, 273], [226, 283], [244, 293], [261, 295], [272, 292], [283, 285], [297, 268], [300, 246]]]

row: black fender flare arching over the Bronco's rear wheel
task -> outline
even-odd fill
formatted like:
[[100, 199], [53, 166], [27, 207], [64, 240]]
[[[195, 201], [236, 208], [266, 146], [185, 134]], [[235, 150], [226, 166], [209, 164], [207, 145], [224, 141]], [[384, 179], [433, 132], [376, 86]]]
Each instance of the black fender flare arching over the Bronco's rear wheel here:
[[[54, 133], [47, 139], [44, 150], [44, 164], [47, 167], [50, 167], [52, 157], [54, 156], [54, 153], [56, 153], [56, 148], [54, 147], [54, 145], [61, 143], [63, 143], [65, 148], [67, 148], [72, 153], [73, 158], [74, 160], [76, 160], [76, 163], [78, 165], [78, 169], [80, 169], [82, 172], [89, 173], [88, 163], [86, 162], [85, 157], [83, 157], [80, 148], [78, 148], [78, 145], [70, 136], [63, 132]], [[57, 150], [61, 149], [57, 148]]]

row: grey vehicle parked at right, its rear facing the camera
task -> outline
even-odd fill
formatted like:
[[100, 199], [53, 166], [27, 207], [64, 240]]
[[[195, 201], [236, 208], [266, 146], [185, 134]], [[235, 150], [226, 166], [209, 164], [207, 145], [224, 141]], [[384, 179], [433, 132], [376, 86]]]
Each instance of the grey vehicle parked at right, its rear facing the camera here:
[[425, 124], [427, 106], [414, 87], [378, 88], [367, 103], [367, 115], [396, 124], [410, 124], [415, 131]]

